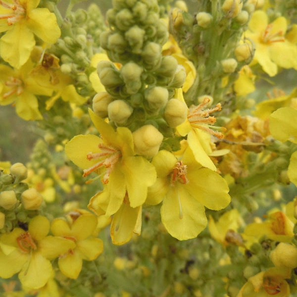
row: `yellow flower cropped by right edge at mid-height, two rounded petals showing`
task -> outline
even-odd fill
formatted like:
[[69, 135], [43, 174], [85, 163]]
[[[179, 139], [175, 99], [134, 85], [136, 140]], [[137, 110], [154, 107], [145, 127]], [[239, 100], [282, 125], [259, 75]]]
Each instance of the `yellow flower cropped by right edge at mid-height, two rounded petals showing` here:
[[[281, 142], [291, 141], [297, 144], [297, 110], [282, 107], [274, 111], [269, 117], [269, 129], [274, 138]], [[297, 185], [297, 151], [293, 152], [288, 167], [288, 177]]]

